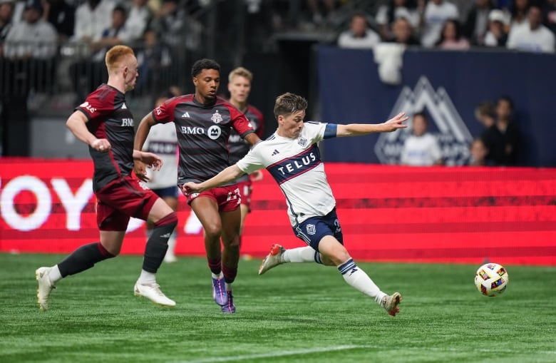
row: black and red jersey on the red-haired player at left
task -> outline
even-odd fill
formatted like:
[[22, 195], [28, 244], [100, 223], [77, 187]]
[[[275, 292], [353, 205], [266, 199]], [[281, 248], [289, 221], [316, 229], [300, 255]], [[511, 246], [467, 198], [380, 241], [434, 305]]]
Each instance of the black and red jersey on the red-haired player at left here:
[[125, 104], [125, 95], [112, 86], [102, 84], [76, 108], [88, 119], [88, 131], [97, 138], [106, 138], [112, 148], [108, 153], [89, 146], [95, 172], [93, 190], [98, 191], [110, 181], [130, 175], [133, 170], [133, 115]]

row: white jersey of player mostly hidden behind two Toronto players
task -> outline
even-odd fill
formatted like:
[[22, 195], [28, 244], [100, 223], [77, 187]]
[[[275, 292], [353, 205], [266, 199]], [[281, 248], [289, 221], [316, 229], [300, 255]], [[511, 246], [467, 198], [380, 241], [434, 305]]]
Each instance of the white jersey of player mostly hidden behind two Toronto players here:
[[147, 168], [150, 189], [168, 188], [177, 180], [177, 136], [174, 123], [157, 123], [150, 128], [143, 150], [155, 153], [163, 160], [163, 167], [153, 172]]

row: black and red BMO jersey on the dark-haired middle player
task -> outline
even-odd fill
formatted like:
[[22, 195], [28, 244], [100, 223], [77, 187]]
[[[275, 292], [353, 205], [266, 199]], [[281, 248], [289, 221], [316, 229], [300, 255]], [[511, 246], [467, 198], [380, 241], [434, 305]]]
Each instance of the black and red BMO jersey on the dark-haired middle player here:
[[180, 161], [177, 184], [200, 183], [230, 166], [228, 139], [232, 129], [241, 138], [254, 132], [244, 113], [224, 98], [205, 105], [194, 94], [177, 96], [153, 110], [158, 123], [174, 122]]

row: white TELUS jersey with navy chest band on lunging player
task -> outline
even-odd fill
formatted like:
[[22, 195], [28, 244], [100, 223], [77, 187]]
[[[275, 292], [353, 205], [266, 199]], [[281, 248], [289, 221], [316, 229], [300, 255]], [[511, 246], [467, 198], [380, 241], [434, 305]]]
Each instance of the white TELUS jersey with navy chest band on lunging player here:
[[277, 181], [288, 205], [292, 226], [307, 218], [327, 215], [336, 206], [326, 180], [317, 143], [324, 138], [330, 123], [305, 122], [298, 138], [283, 138], [274, 133], [257, 143], [236, 165], [244, 173], [267, 168]]

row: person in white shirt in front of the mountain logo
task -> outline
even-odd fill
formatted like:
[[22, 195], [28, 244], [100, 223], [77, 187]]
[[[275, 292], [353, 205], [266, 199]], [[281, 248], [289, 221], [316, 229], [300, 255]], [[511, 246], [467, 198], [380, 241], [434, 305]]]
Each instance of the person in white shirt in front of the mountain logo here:
[[406, 138], [401, 150], [401, 165], [431, 166], [443, 165], [438, 140], [427, 132], [428, 118], [425, 113], [413, 115], [412, 135]]

